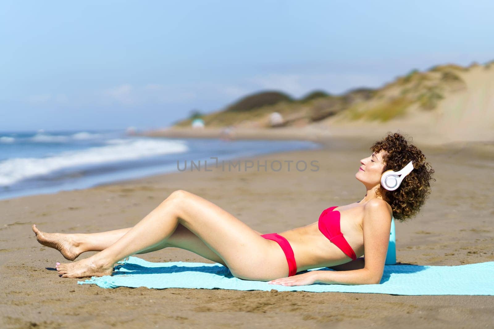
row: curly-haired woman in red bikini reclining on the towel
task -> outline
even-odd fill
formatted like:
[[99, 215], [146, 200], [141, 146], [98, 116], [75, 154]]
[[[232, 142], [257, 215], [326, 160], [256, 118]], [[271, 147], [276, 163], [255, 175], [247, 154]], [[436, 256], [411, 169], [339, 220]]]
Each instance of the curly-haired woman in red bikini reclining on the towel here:
[[[99, 251], [73, 263], [57, 262], [58, 273], [65, 278], [111, 275], [114, 264], [127, 256], [177, 247], [221, 263], [245, 280], [271, 280], [271, 284], [285, 286], [378, 284], [391, 217], [404, 221], [418, 213], [430, 194], [434, 170], [422, 152], [398, 133], [377, 141], [371, 151], [355, 174], [367, 191], [361, 201], [328, 208], [318, 221], [280, 234], [262, 235], [184, 190], [171, 193], [134, 227], [88, 234], [44, 233], [36, 225], [33, 230], [41, 244], [56, 248], [69, 260], [86, 251]], [[401, 177], [399, 187], [384, 190], [383, 172], [399, 171], [410, 162], [411, 172]], [[337, 271], [296, 275], [317, 267]]]

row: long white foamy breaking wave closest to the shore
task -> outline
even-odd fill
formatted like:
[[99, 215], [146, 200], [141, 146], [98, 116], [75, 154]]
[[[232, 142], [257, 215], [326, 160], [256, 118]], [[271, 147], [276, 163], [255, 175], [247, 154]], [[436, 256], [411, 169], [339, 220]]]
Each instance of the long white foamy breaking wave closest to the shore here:
[[115, 161], [136, 160], [154, 155], [184, 153], [189, 147], [184, 141], [129, 139], [125, 143], [66, 151], [44, 158], [12, 158], [0, 162], [0, 186], [47, 175], [80, 165], [97, 165]]

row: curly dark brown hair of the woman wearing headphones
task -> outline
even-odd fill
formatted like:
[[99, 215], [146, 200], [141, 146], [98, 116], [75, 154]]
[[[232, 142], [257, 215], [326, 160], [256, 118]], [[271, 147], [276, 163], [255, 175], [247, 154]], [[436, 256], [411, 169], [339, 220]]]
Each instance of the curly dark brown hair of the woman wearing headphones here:
[[410, 161], [413, 161], [412, 172], [394, 191], [388, 191], [380, 185], [377, 195], [382, 196], [384, 192], [386, 201], [393, 209], [393, 217], [399, 221], [405, 221], [416, 216], [420, 207], [430, 194], [430, 180], [434, 169], [429, 162], [425, 162], [425, 155], [416, 146], [409, 144], [407, 139], [399, 133], [388, 132], [382, 140], [371, 146], [371, 151], [378, 153], [384, 150], [382, 158], [385, 163], [383, 172], [386, 170], [399, 171]]

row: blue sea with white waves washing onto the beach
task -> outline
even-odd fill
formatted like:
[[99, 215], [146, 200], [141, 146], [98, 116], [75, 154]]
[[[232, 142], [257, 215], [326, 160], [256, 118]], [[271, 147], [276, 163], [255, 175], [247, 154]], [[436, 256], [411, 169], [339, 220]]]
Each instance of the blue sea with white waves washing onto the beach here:
[[316, 149], [304, 141], [149, 138], [125, 130], [0, 132], [0, 199], [177, 172], [177, 161]]

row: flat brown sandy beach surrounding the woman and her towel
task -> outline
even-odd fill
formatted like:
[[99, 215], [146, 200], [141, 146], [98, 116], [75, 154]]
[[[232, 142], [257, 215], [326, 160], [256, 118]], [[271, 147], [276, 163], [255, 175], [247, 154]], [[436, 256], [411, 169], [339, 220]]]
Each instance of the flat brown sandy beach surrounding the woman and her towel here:
[[[319, 170], [183, 172], [0, 201], [1, 328], [492, 328], [494, 296], [403, 296], [365, 293], [241, 292], [147, 288], [102, 289], [60, 278], [59, 252], [31, 230], [90, 233], [130, 227], [171, 192], [184, 189], [219, 205], [250, 227], [277, 232], [317, 220], [334, 205], [361, 200], [359, 160], [386, 131], [359, 137], [315, 135], [319, 150], [250, 160], [317, 160]], [[342, 134], [341, 134], [342, 135]], [[376, 136], [378, 135], [378, 136]], [[155, 135], [156, 136], [156, 135]], [[413, 135], [412, 135], [413, 136]], [[276, 136], [263, 136], [276, 138]], [[259, 138], [259, 136], [258, 136]], [[300, 138], [300, 137], [298, 137]], [[494, 260], [494, 145], [427, 145], [436, 171], [420, 214], [396, 222], [401, 264], [461, 265]], [[244, 159], [245, 160], [245, 159]], [[85, 258], [89, 252], [80, 256]], [[168, 248], [149, 261], [203, 261]], [[494, 277], [494, 276], [493, 276]]]

